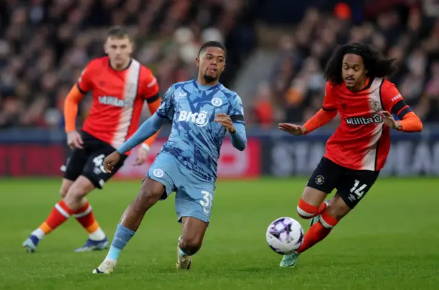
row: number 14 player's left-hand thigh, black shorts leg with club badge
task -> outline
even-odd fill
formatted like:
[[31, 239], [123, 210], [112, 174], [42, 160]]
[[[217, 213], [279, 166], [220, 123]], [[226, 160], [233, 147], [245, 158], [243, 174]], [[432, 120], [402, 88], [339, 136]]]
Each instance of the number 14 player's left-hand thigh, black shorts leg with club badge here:
[[322, 158], [309, 178], [302, 200], [312, 206], [320, 206], [340, 181], [342, 168], [327, 158]]

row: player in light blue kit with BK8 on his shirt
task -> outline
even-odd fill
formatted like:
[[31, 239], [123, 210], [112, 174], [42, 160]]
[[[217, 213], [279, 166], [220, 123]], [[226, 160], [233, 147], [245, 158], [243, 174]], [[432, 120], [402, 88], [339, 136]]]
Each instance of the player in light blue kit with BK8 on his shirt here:
[[176, 213], [182, 223], [177, 269], [189, 269], [191, 256], [200, 250], [211, 215], [223, 138], [228, 131], [233, 146], [241, 151], [247, 138], [241, 99], [218, 82], [226, 65], [225, 47], [217, 42], [204, 43], [196, 63], [198, 80], [172, 85], [156, 113], [104, 160], [104, 168], [110, 172], [121, 154], [152, 136], [167, 121], [172, 122], [169, 140], [147, 172], [139, 195], [123, 213], [110, 250], [94, 274], [114, 271], [121, 250], [147, 210], [174, 191]]

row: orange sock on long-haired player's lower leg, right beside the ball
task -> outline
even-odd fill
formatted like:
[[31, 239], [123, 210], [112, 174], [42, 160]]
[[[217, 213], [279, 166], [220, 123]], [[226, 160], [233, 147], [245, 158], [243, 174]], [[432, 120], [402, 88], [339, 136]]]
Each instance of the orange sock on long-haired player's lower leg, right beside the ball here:
[[297, 250], [298, 253], [305, 252], [316, 243], [326, 238], [331, 230], [337, 225], [338, 219], [331, 217], [326, 211], [322, 213], [318, 223], [314, 223], [303, 237], [303, 243]]

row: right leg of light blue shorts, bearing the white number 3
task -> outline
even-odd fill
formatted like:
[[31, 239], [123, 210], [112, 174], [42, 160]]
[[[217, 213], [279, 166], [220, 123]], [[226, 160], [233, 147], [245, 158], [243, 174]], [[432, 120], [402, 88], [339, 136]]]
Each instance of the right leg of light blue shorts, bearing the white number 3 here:
[[194, 177], [188, 172], [178, 181], [175, 208], [178, 221], [183, 217], [193, 217], [209, 223], [215, 197], [213, 182]]

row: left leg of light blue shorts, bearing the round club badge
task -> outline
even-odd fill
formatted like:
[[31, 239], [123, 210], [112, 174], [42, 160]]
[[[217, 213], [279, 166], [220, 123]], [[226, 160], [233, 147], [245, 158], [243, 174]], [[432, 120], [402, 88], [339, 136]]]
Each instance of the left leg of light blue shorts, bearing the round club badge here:
[[181, 177], [176, 158], [171, 154], [160, 153], [146, 173], [146, 177], [143, 179], [143, 184], [148, 179], [163, 184], [165, 190], [163, 195], [161, 195], [160, 200], [166, 200], [172, 192], [176, 191], [174, 180], [178, 180], [179, 178]]

